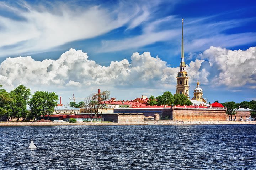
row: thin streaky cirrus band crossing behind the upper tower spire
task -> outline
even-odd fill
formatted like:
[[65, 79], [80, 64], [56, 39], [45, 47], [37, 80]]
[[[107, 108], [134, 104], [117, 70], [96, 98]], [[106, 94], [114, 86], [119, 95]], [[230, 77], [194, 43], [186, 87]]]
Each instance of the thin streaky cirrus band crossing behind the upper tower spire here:
[[[235, 47], [256, 42], [256, 32], [225, 34], [229, 29], [241, 27], [256, 18], [214, 20], [217, 16], [202, 18], [186, 18], [184, 37], [186, 51], [203, 51], [210, 46]], [[171, 42], [172, 51], [180, 52], [181, 19], [168, 16], [151, 20], [140, 26], [142, 33], [129, 38], [103, 40], [98, 52], [113, 52], [133, 49], [154, 44], [155, 42]], [[176, 49], [176, 50], [175, 50]]]

